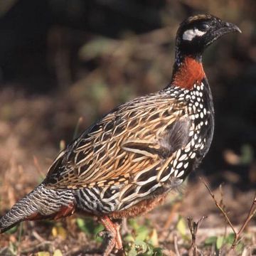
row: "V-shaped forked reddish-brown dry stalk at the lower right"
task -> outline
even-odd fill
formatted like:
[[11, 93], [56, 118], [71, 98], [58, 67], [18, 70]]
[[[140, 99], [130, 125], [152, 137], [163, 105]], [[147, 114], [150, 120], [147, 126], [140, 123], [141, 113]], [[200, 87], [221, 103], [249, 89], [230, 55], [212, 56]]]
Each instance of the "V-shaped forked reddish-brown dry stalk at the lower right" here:
[[255, 192], [255, 197], [252, 201], [252, 205], [250, 207], [249, 213], [247, 215], [247, 218], [245, 219], [244, 223], [242, 223], [242, 226], [240, 227], [240, 229], [238, 230], [238, 232], [235, 230], [233, 223], [231, 222], [230, 218], [228, 217], [228, 213], [226, 213], [225, 211], [225, 206], [223, 207], [223, 200], [220, 201], [220, 203], [218, 203], [218, 201], [215, 199], [214, 194], [212, 193], [212, 191], [210, 191], [209, 186], [206, 184], [206, 181], [204, 181], [203, 178], [200, 178], [201, 181], [203, 182], [204, 186], [206, 186], [208, 192], [210, 193], [210, 196], [213, 198], [213, 201], [215, 203], [215, 206], [218, 207], [218, 209], [220, 210], [220, 212], [223, 214], [226, 222], [228, 223], [228, 225], [230, 226], [230, 228], [233, 230], [233, 233], [235, 235], [235, 238], [233, 240], [233, 244], [231, 245], [231, 249], [233, 250], [235, 248], [235, 246], [238, 244], [239, 240], [240, 240], [240, 236], [242, 235], [242, 232], [245, 230], [245, 228], [247, 227], [248, 223], [250, 222], [250, 220], [252, 219], [252, 217], [255, 215], [256, 213], [256, 192]]

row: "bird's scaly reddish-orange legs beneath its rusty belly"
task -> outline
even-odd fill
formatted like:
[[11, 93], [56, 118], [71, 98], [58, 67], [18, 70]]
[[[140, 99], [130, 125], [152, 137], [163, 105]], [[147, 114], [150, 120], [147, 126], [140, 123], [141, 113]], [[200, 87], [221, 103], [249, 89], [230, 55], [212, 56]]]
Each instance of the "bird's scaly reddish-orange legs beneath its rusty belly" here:
[[118, 222], [113, 223], [107, 216], [99, 218], [102, 224], [105, 226], [107, 234], [109, 235], [109, 241], [107, 242], [107, 248], [105, 249], [104, 256], [110, 255], [113, 248], [122, 250], [122, 238], [120, 235], [120, 224]]

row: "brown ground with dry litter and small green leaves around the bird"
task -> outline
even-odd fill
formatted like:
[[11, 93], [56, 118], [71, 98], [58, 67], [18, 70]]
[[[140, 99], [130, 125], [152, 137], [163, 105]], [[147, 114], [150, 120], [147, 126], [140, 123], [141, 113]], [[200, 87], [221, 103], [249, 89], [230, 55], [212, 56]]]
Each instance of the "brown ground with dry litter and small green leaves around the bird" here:
[[[70, 95], [71, 91], [67, 93]], [[63, 99], [66, 95], [28, 97], [8, 89], [3, 90], [0, 97], [1, 114], [5, 117], [0, 122], [3, 214], [18, 198], [43, 180], [48, 166], [58, 153], [58, 142], [54, 143], [56, 138], [62, 136], [60, 133], [65, 130], [65, 124], [76, 124], [78, 119], [75, 120], [72, 114], [75, 107], [73, 98], [65, 100], [65, 103], [59, 100], [59, 97]], [[50, 120], [46, 119], [47, 122], [44, 119], [46, 115], [50, 117]], [[50, 123], [53, 122], [51, 119], [57, 122]], [[82, 125], [80, 119], [79, 130], [83, 129]], [[59, 147], [63, 147], [63, 144], [65, 142], [60, 141]], [[201, 220], [196, 234], [198, 255], [227, 255], [233, 242], [233, 232], [199, 176], [208, 184], [214, 181], [214, 175], [204, 176], [202, 169], [198, 169], [178, 191], [170, 193], [164, 205], [145, 216], [128, 220], [128, 231], [123, 235], [127, 255], [137, 255], [139, 250], [144, 255], [187, 255], [191, 247], [187, 218], [198, 222], [203, 216], [207, 218]], [[242, 191], [234, 185], [236, 179], [239, 179], [238, 175], [223, 171], [223, 180], [227, 182], [221, 190], [218, 186], [212, 186], [212, 190], [218, 201], [223, 200], [221, 205], [238, 230], [249, 213], [254, 191]], [[1, 235], [0, 255], [100, 254], [101, 238], [97, 237], [97, 233], [101, 229], [97, 220], [80, 215], [73, 215], [58, 223], [23, 223]], [[241, 255], [242, 252], [242, 255], [253, 254], [256, 250], [255, 239], [256, 227], [252, 220], [242, 234], [237, 249], [229, 252], [230, 255]]]

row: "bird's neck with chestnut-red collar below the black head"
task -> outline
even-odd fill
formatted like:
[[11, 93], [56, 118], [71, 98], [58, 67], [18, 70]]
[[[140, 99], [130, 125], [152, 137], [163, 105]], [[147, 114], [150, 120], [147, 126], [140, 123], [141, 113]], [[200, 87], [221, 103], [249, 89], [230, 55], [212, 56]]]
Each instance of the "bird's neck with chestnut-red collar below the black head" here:
[[201, 55], [176, 53], [171, 85], [191, 90], [193, 85], [200, 84], [205, 77]]

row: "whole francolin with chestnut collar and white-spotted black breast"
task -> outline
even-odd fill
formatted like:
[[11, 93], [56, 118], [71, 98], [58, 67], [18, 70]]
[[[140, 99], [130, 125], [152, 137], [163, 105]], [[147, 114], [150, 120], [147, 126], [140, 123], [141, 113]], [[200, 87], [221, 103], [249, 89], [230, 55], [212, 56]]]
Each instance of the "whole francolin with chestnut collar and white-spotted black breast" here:
[[1, 217], [0, 233], [24, 220], [97, 216], [107, 246], [122, 251], [123, 218], [164, 202], [206, 156], [213, 139], [213, 97], [202, 55], [233, 23], [210, 14], [178, 27], [171, 82], [105, 114], [60, 151], [46, 178]]

